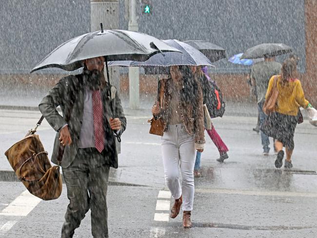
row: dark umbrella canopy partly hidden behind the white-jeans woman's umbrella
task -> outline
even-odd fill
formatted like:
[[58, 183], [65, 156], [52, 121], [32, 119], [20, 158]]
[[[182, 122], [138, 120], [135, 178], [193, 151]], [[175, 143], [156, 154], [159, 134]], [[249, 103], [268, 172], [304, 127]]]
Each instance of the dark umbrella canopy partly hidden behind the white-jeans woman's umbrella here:
[[198, 49], [204, 54], [211, 62], [216, 62], [219, 59], [226, 58], [226, 50], [220, 46], [204, 40], [185, 40], [185, 43]]

